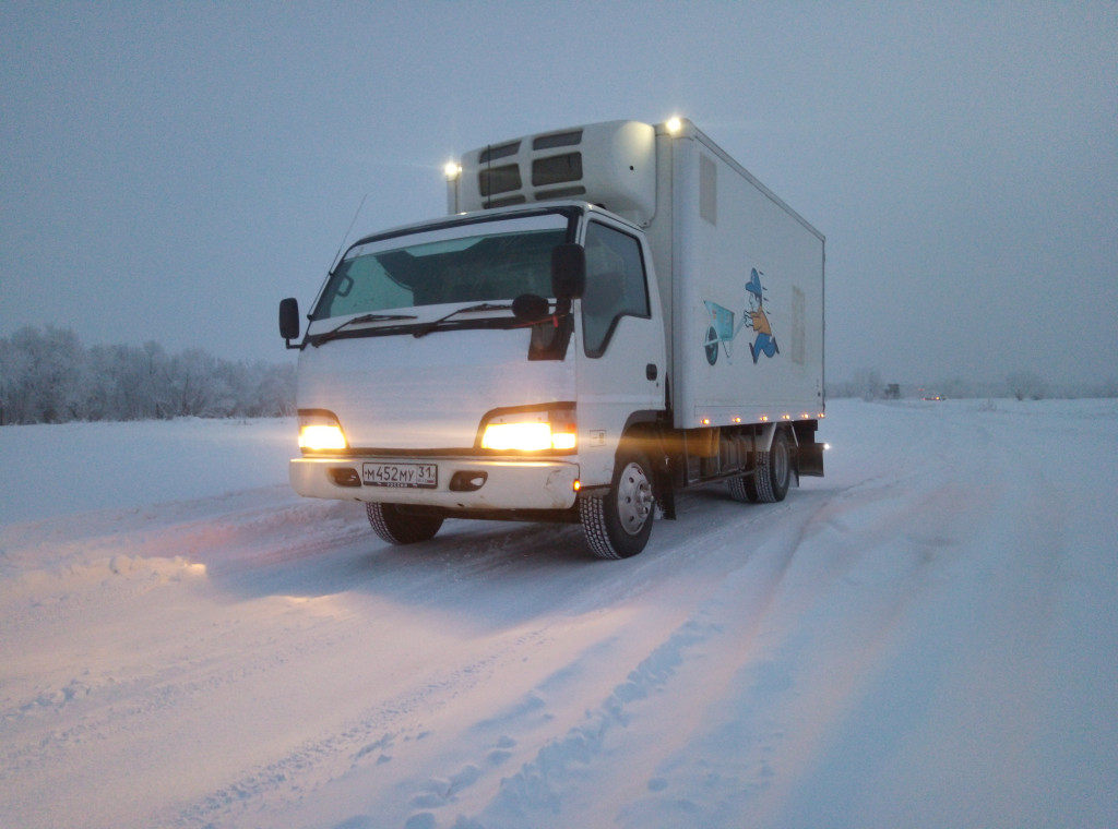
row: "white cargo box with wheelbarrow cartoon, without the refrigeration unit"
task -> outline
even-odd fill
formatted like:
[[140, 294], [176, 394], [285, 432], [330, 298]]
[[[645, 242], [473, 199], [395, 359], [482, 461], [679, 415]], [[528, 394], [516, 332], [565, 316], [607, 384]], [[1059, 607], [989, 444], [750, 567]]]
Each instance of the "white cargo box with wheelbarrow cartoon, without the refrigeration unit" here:
[[818, 417], [823, 235], [692, 124], [659, 132], [671, 172], [646, 232], [672, 305], [675, 426]]

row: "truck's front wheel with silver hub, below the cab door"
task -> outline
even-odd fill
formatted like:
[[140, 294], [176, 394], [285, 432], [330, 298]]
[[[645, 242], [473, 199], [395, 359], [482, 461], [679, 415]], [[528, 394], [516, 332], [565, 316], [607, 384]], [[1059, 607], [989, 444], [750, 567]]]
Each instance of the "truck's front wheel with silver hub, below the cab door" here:
[[623, 448], [609, 492], [579, 501], [586, 542], [599, 559], [628, 559], [648, 543], [656, 505], [652, 477], [648, 457]]

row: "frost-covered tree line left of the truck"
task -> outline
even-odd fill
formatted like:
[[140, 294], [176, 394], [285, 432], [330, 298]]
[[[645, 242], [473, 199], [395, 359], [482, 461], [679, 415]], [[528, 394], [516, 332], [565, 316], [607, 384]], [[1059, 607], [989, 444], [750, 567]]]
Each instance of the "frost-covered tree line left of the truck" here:
[[260, 418], [295, 411], [295, 366], [157, 342], [85, 347], [68, 328], [0, 339], [0, 426], [72, 420]]

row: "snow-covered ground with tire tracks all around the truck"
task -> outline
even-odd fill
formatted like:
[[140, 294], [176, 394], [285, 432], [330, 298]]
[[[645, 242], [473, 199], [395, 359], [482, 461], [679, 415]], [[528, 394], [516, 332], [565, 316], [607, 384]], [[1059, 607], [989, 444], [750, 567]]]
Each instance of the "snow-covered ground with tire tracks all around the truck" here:
[[835, 401], [648, 549], [286, 485], [291, 421], [0, 429], [0, 826], [1118, 826], [1118, 402]]

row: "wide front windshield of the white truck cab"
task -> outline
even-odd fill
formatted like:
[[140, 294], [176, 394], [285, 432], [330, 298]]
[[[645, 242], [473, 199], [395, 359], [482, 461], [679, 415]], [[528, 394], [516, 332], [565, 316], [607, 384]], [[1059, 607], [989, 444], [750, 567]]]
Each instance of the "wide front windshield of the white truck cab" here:
[[549, 212], [354, 245], [326, 282], [311, 320], [550, 296], [551, 249], [567, 240], [567, 216]]

